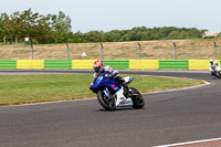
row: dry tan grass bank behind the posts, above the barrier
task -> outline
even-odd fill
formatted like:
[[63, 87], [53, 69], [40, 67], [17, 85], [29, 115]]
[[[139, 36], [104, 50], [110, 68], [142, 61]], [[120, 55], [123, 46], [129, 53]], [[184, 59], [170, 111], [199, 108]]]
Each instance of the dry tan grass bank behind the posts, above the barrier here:
[[[173, 60], [173, 43], [177, 45], [177, 60], [209, 60], [214, 57], [214, 42], [221, 39], [200, 40], [156, 40], [139, 41], [141, 60]], [[70, 43], [70, 59], [101, 59], [99, 43]], [[103, 42], [104, 60], [139, 60], [138, 41]], [[34, 44], [34, 60], [66, 60], [66, 44]], [[1, 60], [31, 60], [31, 46], [24, 44], [0, 44]], [[85, 52], [86, 56], [82, 56]], [[221, 59], [221, 50], [217, 51]]]

